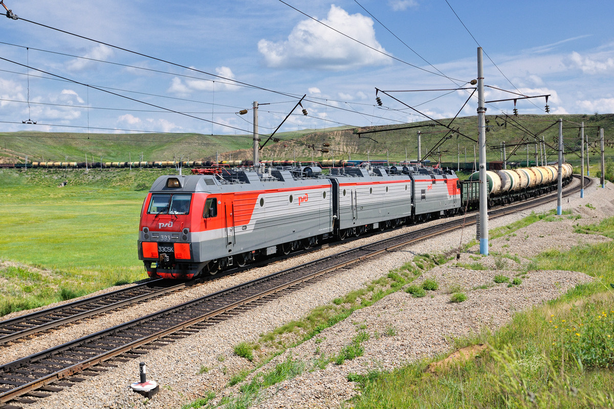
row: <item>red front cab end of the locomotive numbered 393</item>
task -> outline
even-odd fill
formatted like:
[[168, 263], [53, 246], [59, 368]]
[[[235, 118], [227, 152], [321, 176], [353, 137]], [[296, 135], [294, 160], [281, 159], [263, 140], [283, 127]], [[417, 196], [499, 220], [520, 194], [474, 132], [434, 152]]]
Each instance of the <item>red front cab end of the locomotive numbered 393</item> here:
[[160, 177], [144, 201], [138, 250], [149, 277], [190, 279], [198, 272], [192, 219], [203, 194], [185, 185], [185, 177]]

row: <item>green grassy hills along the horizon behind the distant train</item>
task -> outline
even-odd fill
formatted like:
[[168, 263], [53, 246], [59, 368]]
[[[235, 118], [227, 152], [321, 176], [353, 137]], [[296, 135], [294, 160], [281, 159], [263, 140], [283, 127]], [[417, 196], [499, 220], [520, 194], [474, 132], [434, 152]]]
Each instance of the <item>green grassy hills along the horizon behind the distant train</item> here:
[[[519, 115], [518, 117], [499, 117], [487, 115], [489, 132], [486, 134], [488, 161], [499, 160], [498, 147], [503, 141], [506, 145], [521, 143], [530, 134], [544, 137], [546, 143], [555, 146], [558, 137], [556, 121], [563, 118], [565, 151], [578, 148], [579, 131], [574, 123], [585, 123], [585, 134], [591, 141], [598, 138], [597, 126], [605, 129], [605, 139], [614, 140], [610, 134], [614, 131], [614, 114], [593, 115]], [[473, 148], [478, 139], [477, 118], [456, 118], [451, 128], [458, 133], [446, 134], [448, 129], [433, 121], [415, 122], [410, 124], [395, 124], [389, 126], [373, 126], [368, 128], [353, 128], [343, 126], [327, 129], [303, 129], [295, 132], [279, 132], [260, 152], [263, 160], [297, 159], [316, 161], [322, 159], [386, 159], [401, 161], [407, 152], [409, 159], [416, 159], [417, 133], [422, 134], [422, 155], [442, 138], [441, 161], [456, 162], [457, 153], [461, 151], [461, 161], [473, 161]], [[448, 124], [450, 120], [440, 120]], [[429, 126], [433, 125], [433, 126]], [[361, 131], [385, 132], [362, 134]], [[419, 127], [422, 126], [422, 127]], [[550, 128], [549, 128], [550, 127]], [[467, 136], [467, 137], [465, 137]], [[265, 140], [265, 137], [261, 137]], [[322, 153], [323, 143], [329, 143], [328, 153]], [[210, 160], [219, 153], [220, 160], [251, 159], [251, 135], [203, 135], [203, 134], [76, 134], [47, 132], [6, 132], [0, 134], [0, 162], [23, 162], [28, 155], [29, 161], [170, 161], [170, 160]], [[313, 146], [313, 147], [310, 147]], [[507, 148], [510, 155], [513, 147]], [[591, 154], [597, 155], [598, 149]], [[614, 151], [608, 148], [607, 156], [614, 156]], [[534, 145], [529, 146], [529, 158], [535, 156]], [[435, 155], [432, 160], [438, 157]], [[548, 160], [555, 160], [556, 152], [548, 149]], [[526, 145], [518, 147], [516, 154], [508, 157], [510, 161], [526, 159]], [[579, 158], [573, 154], [567, 155], [567, 160], [574, 163]]]

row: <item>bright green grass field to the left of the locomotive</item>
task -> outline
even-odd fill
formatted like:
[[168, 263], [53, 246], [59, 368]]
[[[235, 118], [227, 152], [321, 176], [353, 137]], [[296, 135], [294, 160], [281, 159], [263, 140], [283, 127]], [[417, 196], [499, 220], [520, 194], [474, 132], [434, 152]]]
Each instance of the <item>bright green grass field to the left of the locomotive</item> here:
[[139, 213], [169, 172], [0, 170], [0, 313], [146, 278]]

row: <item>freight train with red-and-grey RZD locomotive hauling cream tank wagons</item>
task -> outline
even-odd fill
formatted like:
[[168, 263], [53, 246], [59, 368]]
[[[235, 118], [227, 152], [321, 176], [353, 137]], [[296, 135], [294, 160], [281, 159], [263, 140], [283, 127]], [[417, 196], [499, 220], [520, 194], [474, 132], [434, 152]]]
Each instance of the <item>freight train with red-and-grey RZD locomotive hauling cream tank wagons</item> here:
[[[489, 203], [556, 188], [554, 168], [489, 172]], [[564, 166], [564, 183], [572, 176]], [[149, 277], [191, 279], [274, 254], [478, 205], [479, 180], [418, 166], [195, 169], [158, 177], [145, 198], [138, 256]]]

